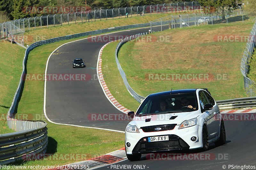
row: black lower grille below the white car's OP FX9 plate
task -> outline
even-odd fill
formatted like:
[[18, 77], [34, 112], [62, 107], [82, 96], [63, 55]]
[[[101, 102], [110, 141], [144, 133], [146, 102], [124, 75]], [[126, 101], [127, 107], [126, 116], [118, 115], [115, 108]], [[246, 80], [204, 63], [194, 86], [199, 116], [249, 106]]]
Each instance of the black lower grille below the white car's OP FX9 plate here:
[[[132, 153], [150, 153], [168, 150], [189, 149], [189, 145], [177, 135], [168, 135], [169, 141], [148, 142], [148, 137], [143, 137], [135, 145]], [[145, 138], [147, 139], [145, 141]]]

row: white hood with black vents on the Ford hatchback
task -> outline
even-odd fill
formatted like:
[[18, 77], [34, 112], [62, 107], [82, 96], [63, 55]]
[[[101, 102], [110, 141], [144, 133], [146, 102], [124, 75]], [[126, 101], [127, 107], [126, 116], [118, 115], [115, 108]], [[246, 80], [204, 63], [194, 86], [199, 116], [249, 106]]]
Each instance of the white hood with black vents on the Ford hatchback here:
[[[158, 114], [158, 115], [147, 115], [147, 116], [134, 116], [133, 120], [129, 123], [131, 125], [136, 125], [138, 129], [145, 126], [155, 126], [164, 124], [177, 124], [180, 125], [185, 120], [190, 120], [196, 118], [200, 115], [199, 111], [193, 112], [181, 112], [181, 113], [168, 113], [168, 114]], [[172, 117], [177, 116], [177, 117]], [[170, 120], [170, 118], [174, 118]], [[146, 120], [147, 119], [147, 120]], [[150, 121], [149, 121], [150, 119]]]

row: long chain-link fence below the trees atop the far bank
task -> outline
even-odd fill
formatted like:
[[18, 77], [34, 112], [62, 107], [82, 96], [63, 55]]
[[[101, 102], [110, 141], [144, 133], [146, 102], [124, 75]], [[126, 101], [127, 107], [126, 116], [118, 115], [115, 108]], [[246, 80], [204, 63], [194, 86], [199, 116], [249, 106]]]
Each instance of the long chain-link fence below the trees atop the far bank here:
[[[112, 8], [112, 9], [95, 9], [87, 11], [78, 11], [74, 13], [56, 13], [50, 15], [43, 15], [30, 18], [20, 18], [8, 23], [12, 23], [17, 28], [23, 31], [29, 31], [31, 29], [38, 29], [48, 26], [57, 26], [63, 24], [76, 24], [86, 23], [102, 19], [114, 19], [125, 18], [133, 16], [144, 16], [152, 13], [168, 13], [177, 11], [194, 11], [200, 10], [202, 7], [197, 1], [192, 2], [177, 2], [169, 4], [154, 4], [134, 7]], [[28, 12], [28, 11], [26, 11]], [[7, 22], [0, 23], [0, 38], [5, 38], [7, 35], [4, 33], [3, 26]]]

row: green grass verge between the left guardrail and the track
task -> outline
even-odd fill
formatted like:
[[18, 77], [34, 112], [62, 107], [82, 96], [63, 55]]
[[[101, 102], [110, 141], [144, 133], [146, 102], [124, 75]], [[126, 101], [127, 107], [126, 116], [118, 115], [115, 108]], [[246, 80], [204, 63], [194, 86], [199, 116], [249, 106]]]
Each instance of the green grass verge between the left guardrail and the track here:
[[[74, 40], [76, 39], [55, 42], [32, 50], [28, 56], [27, 73], [44, 72], [46, 61], [52, 51], [61, 44]], [[18, 77], [20, 77], [20, 75]], [[44, 81], [26, 81], [17, 115], [37, 115], [38, 119], [46, 121], [43, 107]], [[123, 133], [56, 125], [48, 121], [46, 122], [48, 123], [47, 128], [49, 136], [47, 153], [54, 153], [54, 155], [43, 160], [24, 162], [22, 165], [65, 165], [112, 152], [124, 145]], [[109, 138], [109, 136], [111, 136], [111, 138]], [[62, 158], [65, 155], [68, 157], [70, 154], [78, 154], [78, 159]]]

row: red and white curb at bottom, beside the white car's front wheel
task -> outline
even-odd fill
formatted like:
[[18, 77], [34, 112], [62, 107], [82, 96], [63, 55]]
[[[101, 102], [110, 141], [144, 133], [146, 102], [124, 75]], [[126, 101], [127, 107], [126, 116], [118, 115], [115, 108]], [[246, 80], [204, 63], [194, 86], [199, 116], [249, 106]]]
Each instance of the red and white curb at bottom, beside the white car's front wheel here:
[[[126, 153], [125, 153], [125, 148], [123, 147], [119, 150], [107, 153], [105, 155], [102, 155], [96, 158], [91, 158], [81, 162], [63, 165], [62, 167], [64, 167], [65, 169], [95, 169], [101, 166], [107, 166], [107, 165], [122, 161], [124, 159], [126, 159]], [[59, 169], [54, 168], [52, 170], [60, 170], [60, 168]]]

